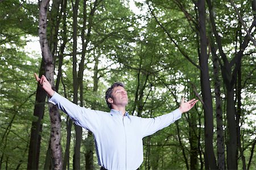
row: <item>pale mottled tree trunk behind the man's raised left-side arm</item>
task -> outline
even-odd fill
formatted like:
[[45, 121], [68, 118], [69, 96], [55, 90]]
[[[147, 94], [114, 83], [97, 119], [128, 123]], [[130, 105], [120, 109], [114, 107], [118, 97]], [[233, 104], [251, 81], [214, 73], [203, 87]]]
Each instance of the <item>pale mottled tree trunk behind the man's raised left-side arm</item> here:
[[[40, 46], [42, 50], [42, 56], [46, 65], [46, 78], [51, 83], [53, 90], [55, 90], [54, 84], [54, 65], [53, 57], [50, 52], [47, 41], [47, 11], [49, 0], [40, 1], [39, 6], [39, 38]], [[60, 143], [60, 114], [57, 107], [53, 104], [48, 104], [49, 116], [51, 118], [51, 153], [54, 169], [62, 169], [62, 153]]]

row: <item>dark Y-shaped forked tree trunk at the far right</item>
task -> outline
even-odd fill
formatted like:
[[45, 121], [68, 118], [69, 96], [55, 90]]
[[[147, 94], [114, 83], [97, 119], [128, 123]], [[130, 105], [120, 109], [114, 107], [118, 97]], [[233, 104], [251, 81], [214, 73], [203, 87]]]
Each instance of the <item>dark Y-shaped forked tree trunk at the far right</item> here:
[[[237, 71], [241, 65], [241, 59], [243, 56], [243, 51], [246, 49], [249, 42], [249, 35], [246, 35], [243, 39], [242, 44], [240, 45], [240, 51], [234, 55], [232, 60], [229, 62], [224, 50], [222, 49], [221, 37], [218, 35], [216, 23], [214, 21], [214, 11], [212, 2], [207, 0], [209, 13], [210, 13], [210, 22], [212, 24], [212, 30], [214, 33], [214, 38], [216, 39], [218, 50], [223, 61], [221, 65], [222, 78], [226, 87], [226, 114], [228, 120], [228, 139], [227, 139], [227, 163], [228, 169], [237, 169], [237, 128], [236, 128], [236, 108], [234, 102], [234, 83], [237, 79]], [[256, 1], [252, 1], [252, 9], [255, 13], [256, 10]], [[254, 16], [254, 21], [249, 28], [249, 33], [252, 28], [255, 26], [256, 17]], [[234, 67], [234, 69], [233, 69]]]

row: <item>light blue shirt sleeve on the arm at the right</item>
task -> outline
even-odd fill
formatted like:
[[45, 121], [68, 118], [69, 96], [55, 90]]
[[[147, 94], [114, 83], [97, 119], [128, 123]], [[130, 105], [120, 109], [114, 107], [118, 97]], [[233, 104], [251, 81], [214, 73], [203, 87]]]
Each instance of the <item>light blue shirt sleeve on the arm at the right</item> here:
[[143, 138], [154, 134], [158, 130], [166, 128], [176, 120], [179, 120], [181, 118], [181, 114], [180, 109], [176, 109], [175, 111], [168, 114], [163, 114], [162, 116], [154, 118], [141, 118]]

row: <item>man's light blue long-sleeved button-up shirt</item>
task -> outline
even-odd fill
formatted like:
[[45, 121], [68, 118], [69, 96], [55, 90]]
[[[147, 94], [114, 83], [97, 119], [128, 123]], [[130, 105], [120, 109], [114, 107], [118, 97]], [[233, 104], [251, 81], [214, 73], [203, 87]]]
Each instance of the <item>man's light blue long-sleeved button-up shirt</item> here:
[[57, 92], [49, 102], [67, 113], [76, 125], [92, 131], [98, 164], [110, 170], [138, 169], [143, 162], [142, 138], [181, 118], [179, 109], [155, 118], [131, 116], [127, 112], [122, 116], [114, 109], [94, 111], [79, 107]]

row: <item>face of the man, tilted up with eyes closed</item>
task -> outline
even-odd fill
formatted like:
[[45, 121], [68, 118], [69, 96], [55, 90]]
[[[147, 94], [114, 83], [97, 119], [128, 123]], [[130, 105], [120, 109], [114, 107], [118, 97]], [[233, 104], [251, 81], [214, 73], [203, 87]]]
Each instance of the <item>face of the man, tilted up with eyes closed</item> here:
[[128, 96], [125, 88], [122, 86], [114, 87], [112, 92], [112, 100], [112, 104], [125, 107], [128, 104]]

